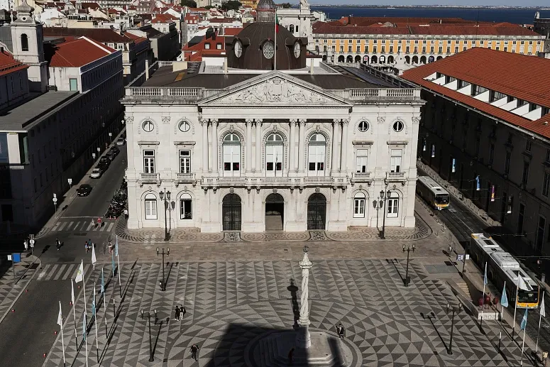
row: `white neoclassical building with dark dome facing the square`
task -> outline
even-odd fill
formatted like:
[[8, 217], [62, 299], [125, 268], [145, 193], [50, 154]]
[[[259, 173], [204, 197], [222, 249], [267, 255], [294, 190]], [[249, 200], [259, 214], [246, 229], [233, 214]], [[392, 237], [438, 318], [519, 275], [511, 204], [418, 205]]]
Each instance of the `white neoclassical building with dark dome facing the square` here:
[[419, 89], [309, 59], [282, 27], [275, 44], [275, 7], [260, 5], [221, 62], [126, 88], [128, 227], [413, 227]]

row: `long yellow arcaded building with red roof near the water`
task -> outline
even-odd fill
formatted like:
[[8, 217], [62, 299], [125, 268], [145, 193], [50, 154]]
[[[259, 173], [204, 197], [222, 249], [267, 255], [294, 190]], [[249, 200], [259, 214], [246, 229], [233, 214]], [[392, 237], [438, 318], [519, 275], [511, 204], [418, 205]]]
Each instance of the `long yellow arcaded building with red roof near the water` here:
[[537, 55], [545, 36], [512, 23], [461, 18], [344, 17], [315, 22], [314, 50], [329, 62], [422, 65], [469, 50], [488, 48]]

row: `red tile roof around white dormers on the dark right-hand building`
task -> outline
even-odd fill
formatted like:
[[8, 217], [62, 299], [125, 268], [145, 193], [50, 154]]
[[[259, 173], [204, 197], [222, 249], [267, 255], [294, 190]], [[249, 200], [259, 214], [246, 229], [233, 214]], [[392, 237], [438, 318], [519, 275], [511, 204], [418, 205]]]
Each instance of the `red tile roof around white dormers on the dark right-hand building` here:
[[441, 72], [441, 74], [456, 77], [458, 80], [465, 80], [471, 84], [502, 92], [524, 101], [550, 107], [550, 72], [548, 70], [550, 70], [550, 60], [542, 57], [487, 48], [472, 48], [427, 65], [414, 67], [403, 72], [402, 77], [426, 89], [444, 94], [446, 97], [495, 116], [497, 119], [550, 138], [550, 124], [544, 124], [550, 122], [550, 114], [531, 121], [505, 109], [424, 80], [434, 72]]

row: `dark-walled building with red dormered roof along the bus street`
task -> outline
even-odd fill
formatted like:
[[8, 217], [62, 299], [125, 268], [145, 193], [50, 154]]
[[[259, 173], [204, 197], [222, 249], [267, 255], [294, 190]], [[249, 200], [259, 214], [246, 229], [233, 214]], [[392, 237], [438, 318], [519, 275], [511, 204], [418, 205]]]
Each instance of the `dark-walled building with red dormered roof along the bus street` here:
[[478, 48], [403, 75], [427, 101], [419, 158], [515, 234], [517, 253], [550, 252], [549, 67]]

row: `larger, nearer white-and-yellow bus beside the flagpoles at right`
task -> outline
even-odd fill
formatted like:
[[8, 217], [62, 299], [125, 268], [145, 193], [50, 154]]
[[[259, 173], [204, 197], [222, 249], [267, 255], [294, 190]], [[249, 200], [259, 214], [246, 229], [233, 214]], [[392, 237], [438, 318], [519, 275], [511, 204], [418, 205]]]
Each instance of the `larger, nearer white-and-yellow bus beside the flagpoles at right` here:
[[471, 234], [470, 251], [473, 261], [481, 269], [487, 263], [487, 278], [500, 291], [506, 282], [506, 291], [510, 306], [513, 307], [516, 298], [518, 277], [522, 277], [527, 290], [517, 290], [518, 308], [539, 307], [539, 284], [525, 273], [519, 262], [502, 248], [490, 236]]

